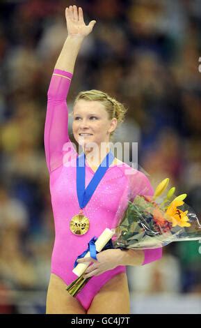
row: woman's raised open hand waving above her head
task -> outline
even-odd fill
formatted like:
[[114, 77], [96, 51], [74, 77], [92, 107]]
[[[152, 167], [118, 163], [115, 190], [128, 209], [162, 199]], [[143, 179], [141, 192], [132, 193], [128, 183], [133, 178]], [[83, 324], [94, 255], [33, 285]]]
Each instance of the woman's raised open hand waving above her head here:
[[65, 18], [67, 23], [68, 36], [85, 37], [93, 30], [96, 23], [95, 20], [90, 21], [88, 25], [83, 20], [83, 10], [77, 6], [70, 6], [65, 8]]

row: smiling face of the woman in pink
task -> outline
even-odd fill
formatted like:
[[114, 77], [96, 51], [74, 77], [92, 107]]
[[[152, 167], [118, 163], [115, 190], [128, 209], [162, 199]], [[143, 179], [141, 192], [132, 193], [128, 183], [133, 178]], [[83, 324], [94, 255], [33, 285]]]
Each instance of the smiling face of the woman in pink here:
[[109, 142], [110, 133], [115, 130], [117, 119], [108, 119], [104, 105], [99, 101], [78, 100], [74, 105], [72, 132], [81, 145], [95, 142]]

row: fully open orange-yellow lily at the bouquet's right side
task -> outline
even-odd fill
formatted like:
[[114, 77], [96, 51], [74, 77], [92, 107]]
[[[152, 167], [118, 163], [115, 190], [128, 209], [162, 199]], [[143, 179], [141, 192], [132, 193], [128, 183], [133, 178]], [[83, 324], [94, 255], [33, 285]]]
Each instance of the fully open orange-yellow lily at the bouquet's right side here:
[[191, 223], [188, 223], [188, 211], [181, 211], [181, 209], [177, 209], [178, 206], [183, 205], [184, 202], [182, 200], [174, 200], [168, 209], [166, 210], [166, 214], [169, 216], [169, 220], [172, 221], [172, 227], [179, 225], [179, 227], [190, 227]]

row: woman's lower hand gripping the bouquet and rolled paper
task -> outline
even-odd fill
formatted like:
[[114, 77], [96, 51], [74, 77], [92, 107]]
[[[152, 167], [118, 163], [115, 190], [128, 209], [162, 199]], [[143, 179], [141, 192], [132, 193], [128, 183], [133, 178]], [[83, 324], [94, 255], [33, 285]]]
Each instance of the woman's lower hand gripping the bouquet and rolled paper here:
[[92, 276], [99, 276], [105, 271], [114, 269], [115, 267], [118, 267], [118, 265], [122, 265], [120, 263], [121, 258], [122, 251], [117, 248], [111, 248], [98, 253], [97, 260], [94, 260], [93, 258], [80, 258], [77, 262], [93, 262], [93, 264], [91, 264], [84, 272], [84, 278], [89, 278]]

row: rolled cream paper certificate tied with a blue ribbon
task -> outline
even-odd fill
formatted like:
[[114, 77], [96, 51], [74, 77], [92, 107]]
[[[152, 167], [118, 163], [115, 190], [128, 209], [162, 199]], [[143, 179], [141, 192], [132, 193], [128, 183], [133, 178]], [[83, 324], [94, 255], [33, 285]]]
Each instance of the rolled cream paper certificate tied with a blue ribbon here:
[[[106, 228], [104, 232], [98, 237], [97, 241], [95, 241], [95, 247], [97, 252], [102, 251], [102, 248], [106, 246], [108, 241], [113, 237], [113, 234], [115, 232]], [[87, 252], [86, 255], [83, 258], [90, 258], [90, 252]], [[86, 270], [86, 268], [89, 266], [90, 262], [85, 262], [85, 263], [79, 263], [77, 266], [72, 270], [74, 274], [77, 276], [81, 276], [83, 272]]]

